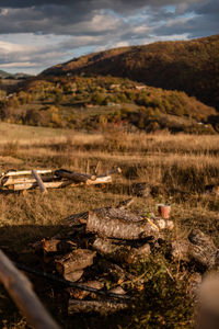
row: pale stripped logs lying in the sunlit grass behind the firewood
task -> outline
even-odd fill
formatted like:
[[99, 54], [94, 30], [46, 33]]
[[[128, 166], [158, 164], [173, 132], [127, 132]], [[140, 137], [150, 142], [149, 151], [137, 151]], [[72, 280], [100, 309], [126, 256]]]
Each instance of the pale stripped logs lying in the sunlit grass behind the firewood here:
[[24, 170], [8, 171], [1, 174], [0, 183], [2, 190], [25, 191], [39, 188], [42, 193], [47, 189], [60, 189], [66, 186], [83, 186], [112, 183], [112, 174], [120, 173], [120, 168], [115, 168], [106, 173], [91, 175], [66, 169], [59, 170]]

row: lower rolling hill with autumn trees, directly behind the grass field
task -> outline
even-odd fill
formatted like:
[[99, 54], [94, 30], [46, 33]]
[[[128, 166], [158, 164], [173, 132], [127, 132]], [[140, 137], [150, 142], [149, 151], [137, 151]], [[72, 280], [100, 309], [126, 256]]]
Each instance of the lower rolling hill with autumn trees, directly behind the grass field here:
[[30, 79], [0, 102], [1, 121], [78, 131], [215, 134], [218, 116], [185, 92], [111, 76]]

